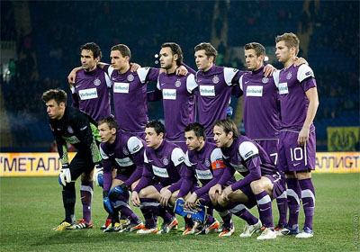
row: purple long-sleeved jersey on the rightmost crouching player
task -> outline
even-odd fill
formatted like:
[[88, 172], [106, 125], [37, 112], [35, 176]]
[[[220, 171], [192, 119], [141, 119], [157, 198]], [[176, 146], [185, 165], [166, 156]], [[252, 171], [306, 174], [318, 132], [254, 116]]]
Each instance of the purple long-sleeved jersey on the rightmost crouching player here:
[[[229, 148], [221, 148], [221, 150], [224, 163], [232, 168], [232, 174], [238, 171], [244, 175], [243, 179], [231, 184], [233, 191], [260, 179], [262, 175], [275, 175], [278, 171], [264, 148], [245, 136], [238, 136]], [[220, 178], [219, 184], [228, 181], [224, 175]]]

